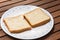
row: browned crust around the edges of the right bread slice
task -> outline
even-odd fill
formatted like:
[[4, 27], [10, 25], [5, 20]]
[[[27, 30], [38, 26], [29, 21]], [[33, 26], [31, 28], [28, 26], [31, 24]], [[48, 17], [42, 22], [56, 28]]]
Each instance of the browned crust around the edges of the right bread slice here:
[[[32, 10], [31, 12], [33, 12], [33, 11], [35, 11], [35, 10], [38, 10], [38, 9], [41, 10], [41, 8], [37, 8], [37, 9]], [[41, 10], [41, 11], [43, 12], [43, 10]], [[27, 14], [31, 14], [31, 12], [29, 12], [29, 13], [27, 13]], [[28, 22], [32, 27], [41, 26], [41, 25], [46, 24], [46, 23], [48, 23], [48, 22], [50, 21], [50, 17], [49, 17], [48, 15], [46, 15], [47, 17], [49, 17], [47, 20], [43, 20], [42, 22], [38, 22], [38, 23], [36, 23], [36, 24], [33, 25], [33, 24], [30, 22], [30, 20], [28, 19], [27, 14], [25, 14], [24, 17], [25, 17], [25, 19], [27, 20], [27, 22]]]

